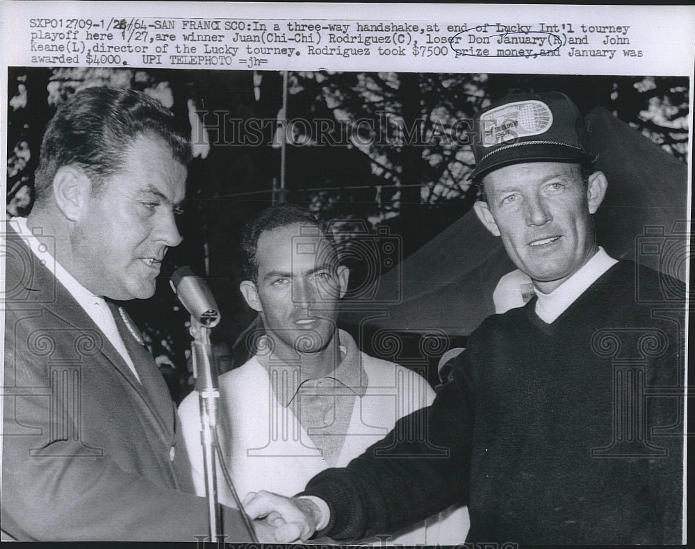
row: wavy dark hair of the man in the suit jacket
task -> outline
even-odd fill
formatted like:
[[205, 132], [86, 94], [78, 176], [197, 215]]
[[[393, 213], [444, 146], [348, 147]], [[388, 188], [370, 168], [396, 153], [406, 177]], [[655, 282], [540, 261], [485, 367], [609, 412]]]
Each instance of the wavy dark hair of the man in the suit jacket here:
[[190, 142], [156, 99], [113, 88], [76, 92], [58, 107], [44, 133], [34, 178], [37, 199], [51, 188], [61, 166], [78, 165], [93, 183], [103, 183], [123, 167], [128, 147], [139, 136], [163, 140], [181, 164], [190, 160]]

